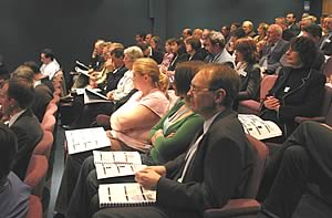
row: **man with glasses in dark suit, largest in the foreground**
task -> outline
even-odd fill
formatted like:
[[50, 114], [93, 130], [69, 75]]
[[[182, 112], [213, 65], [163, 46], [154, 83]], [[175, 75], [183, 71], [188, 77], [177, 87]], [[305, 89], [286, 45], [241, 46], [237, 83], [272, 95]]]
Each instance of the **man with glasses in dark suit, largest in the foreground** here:
[[205, 120], [203, 129], [187, 153], [135, 175], [143, 187], [157, 191], [156, 205], [105, 208], [93, 218], [196, 218], [208, 208], [222, 207], [230, 198], [241, 197], [255, 155], [231, 111], [239, 83], [239, 76], [228, 65], [211, 64], [200, 70], [188, 95], [193, 111]]

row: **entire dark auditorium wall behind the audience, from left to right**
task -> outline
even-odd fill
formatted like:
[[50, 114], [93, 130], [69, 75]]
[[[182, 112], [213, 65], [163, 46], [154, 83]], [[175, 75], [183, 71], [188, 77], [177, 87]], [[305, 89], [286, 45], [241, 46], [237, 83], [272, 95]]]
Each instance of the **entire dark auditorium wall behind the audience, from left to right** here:
[[[321, 0], [311, 0], [319, 15]], [[87, 63], [95, 39], [134, 43], [138, 30], [162, 39], [185, 27], [217, 29], [221, 23], [272, 22], [286, 11], [303, 12], [303, 0], [1, 0], [0, 54], [10, 70], [51, 48], [64, 71], [76, 59]]]

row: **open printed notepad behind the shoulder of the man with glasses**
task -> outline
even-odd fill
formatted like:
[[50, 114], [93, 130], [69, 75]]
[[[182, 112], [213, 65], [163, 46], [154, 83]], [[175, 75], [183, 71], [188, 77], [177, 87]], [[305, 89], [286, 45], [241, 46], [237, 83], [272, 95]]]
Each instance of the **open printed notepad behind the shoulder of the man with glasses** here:
[[282, 135], [282, 131], [272, 121], [263, 121], [253, 114], [239, 114], [238, 118], [245, 132], [259, 141]]

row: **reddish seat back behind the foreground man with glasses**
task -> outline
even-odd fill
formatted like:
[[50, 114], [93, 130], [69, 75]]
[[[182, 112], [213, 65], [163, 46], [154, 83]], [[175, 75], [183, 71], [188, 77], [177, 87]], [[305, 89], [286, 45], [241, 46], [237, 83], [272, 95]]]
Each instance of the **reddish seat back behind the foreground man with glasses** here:
[[251, 176], [249, 177], [249, 181], [247, 184], [243, 198], [256, 198], [260, 185], [260, 180], [262, 178], [269, 149], [262, 142], [248, 134], [247, 134], [247, 138], [250, 145], [252, 146], [253, 150], [256, 152], [256, 157], [255, 157], [256, 159], [255, 159], [253, 170]]

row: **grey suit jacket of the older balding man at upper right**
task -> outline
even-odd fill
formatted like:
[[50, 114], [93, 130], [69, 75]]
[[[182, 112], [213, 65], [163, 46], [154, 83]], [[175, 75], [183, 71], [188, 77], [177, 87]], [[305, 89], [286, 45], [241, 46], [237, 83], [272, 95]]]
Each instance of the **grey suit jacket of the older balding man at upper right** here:
[[280, 66], [280, 59], [289, 49], [289, 42], [284, 40], [280, 40], [276, 48], [271, 51], [271, 45], [268, 44], [262, 49], [262, 58], [259, 61], [259, 65], [263, 64], [263, 60], [268, 58], [268, 69], [266, 71], [267, 74], [274, 74], [276, 70]]

